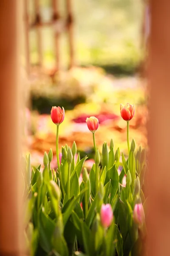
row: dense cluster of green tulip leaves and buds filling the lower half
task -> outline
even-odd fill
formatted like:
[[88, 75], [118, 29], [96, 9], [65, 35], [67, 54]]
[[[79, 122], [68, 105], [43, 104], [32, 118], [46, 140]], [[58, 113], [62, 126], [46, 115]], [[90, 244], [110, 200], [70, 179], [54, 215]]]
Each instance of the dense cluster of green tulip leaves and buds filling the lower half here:
[[[62, 147], [60, 177], [58, 169], [51, 170], [51, 150], [44, 154], [43, 171], [41, 166], [31, 167], [30, 154], [22, 158], [25, 237], [32, 256], [141, 255], [145, 224], [139, 228], [134, 222], [133, 209], [146, 201], [142, 189], [147, 165], [145, 149], [139, 147], [135, 152], [135, 147], [133, 140], [128, 159], [122, 153], [120, 161], [113, 140], [110, 150], [104, 143], [102, 160], [97, 151], [89, 175], [83, 169], [87, 157], [80, 159], [78, 154], [77, 161], [74, 159], [75, 143], [72, 150], [67, 145]], [[122, 186], [124, 175], [126, 186]], [[108, 228], [102, 227], [100, 220], [102, 204], [111, 204], [113, 209], [113, 222]]]

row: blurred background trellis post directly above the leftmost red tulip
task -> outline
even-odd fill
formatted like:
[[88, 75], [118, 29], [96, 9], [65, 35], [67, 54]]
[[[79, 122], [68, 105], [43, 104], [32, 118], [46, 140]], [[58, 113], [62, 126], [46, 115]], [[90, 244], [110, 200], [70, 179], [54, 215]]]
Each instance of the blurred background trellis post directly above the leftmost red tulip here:
[[[59, 1], [58, 0], [52, 0], [52, 6], [53, 6], [53, 21], [54, 23], [59, 22], [60, 15], [59, 15]], [[59, 70], [60, 67], [60, 56], [59, 56], [59, 29], [56, 29], [55, 31], [55, 56], [56, 56], [56, 70]]]

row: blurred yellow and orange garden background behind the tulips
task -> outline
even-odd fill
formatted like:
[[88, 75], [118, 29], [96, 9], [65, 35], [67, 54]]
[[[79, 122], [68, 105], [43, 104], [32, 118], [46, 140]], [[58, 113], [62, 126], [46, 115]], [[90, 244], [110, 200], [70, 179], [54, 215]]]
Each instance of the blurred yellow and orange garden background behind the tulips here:
[[[31, 162], [43, 164], [44, 151], [56, 152], [52, 106], [65, 108], [59, 145], [77, 143], [93, 157], [86, 118], [96, 116], [96, 143], [114, 141], [127, 153], [126, 122], [120, 103], [135, 104], [130, 140], [146, 147], [147, 17], [142, 0], [26, 0], [23, 26], [23, 99], [28, 108], [23, 131]], [[27, 149], [26, 149], [27, 148]], [[87, 162], [91, 165], [91, 162]], [[56, 159], [54, 157], [54, 166]]]

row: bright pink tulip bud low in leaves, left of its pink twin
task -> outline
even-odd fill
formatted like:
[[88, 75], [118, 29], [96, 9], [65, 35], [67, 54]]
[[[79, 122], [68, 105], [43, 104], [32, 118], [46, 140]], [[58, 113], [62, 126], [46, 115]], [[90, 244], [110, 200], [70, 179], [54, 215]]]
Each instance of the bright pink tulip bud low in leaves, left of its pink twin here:
[[113, 211], [110, 204], [102, 204], [100, 210], [100, 221], [103, 227], [109, 227], [113, 221]]

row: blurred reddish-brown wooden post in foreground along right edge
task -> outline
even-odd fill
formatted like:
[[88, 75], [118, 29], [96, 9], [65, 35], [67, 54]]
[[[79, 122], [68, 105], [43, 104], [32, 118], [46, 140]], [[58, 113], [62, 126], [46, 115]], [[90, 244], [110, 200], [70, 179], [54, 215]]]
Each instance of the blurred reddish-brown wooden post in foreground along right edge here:
[[150, 4], [148, 255], [160, 256], [170, 254], [170, 1]]

